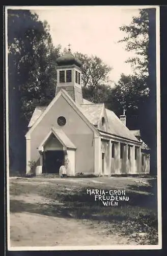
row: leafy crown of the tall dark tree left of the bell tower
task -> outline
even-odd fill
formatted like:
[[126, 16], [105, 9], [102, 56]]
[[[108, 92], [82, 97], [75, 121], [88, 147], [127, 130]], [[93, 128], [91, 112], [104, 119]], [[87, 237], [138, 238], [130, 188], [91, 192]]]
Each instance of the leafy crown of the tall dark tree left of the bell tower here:
[[37, 104], [54, 97], [55, 60], [60, 46], [54, 48], [47, 22], [28, 10], [8, 10], [9, 86], [18, 90], [21, 116], [30, 120]]

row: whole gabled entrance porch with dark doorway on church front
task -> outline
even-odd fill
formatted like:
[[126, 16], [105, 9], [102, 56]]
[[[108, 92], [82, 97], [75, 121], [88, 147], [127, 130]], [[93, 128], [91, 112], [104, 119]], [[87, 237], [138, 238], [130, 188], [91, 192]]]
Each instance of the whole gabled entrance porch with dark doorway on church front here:
[[51, 128], [37, 148], [40, 164], [36, 176], [59, 175], [60, 166], [66, 166], [67, 175], [75, 174], [75, 145], [61, 129]]

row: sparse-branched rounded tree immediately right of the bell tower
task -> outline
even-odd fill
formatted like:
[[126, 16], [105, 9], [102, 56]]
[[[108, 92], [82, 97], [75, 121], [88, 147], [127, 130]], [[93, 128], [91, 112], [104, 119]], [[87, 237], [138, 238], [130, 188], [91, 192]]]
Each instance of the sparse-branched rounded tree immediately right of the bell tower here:
[[101, 58], [97, 56], [88, 56], [79, 52], [74, 53], [82, 63], [82, 80], [83, 87], [89, 87], [94, 90], [99, 84], [106, 84], [109, 82], [109, 72], [112, 70], [107, 66]]

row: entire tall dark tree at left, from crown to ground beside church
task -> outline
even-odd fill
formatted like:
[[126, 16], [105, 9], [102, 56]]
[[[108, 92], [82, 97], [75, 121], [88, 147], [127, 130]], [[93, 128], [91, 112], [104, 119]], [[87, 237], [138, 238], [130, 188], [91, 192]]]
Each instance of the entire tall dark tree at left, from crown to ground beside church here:
[[25, 172], [25, 133], [37, 104], [54, 97], [55, 59], [49, 26], [28, 10], [8, 10], [10, 171]]

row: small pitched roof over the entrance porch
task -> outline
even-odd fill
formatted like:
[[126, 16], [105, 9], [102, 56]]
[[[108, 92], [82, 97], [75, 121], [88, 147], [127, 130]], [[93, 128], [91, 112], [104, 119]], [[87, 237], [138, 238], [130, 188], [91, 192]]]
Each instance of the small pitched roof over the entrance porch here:
[[66, 148], [73, 148], [76, 149], [76, 146], [71, 142], [71, 140], [67, 137], [67, 135], [62, 131], [55, 129], [54, 127], [51, 128], [51, 131], [47, 134], [47, 136], [44, 138], [44, 140], [41, 142], [39, 146], [39, 151], [42, 151], [42, 148], [50, 135], [53, 133], [53, 135], [60, 141], [60, 143], [65, 146]]

